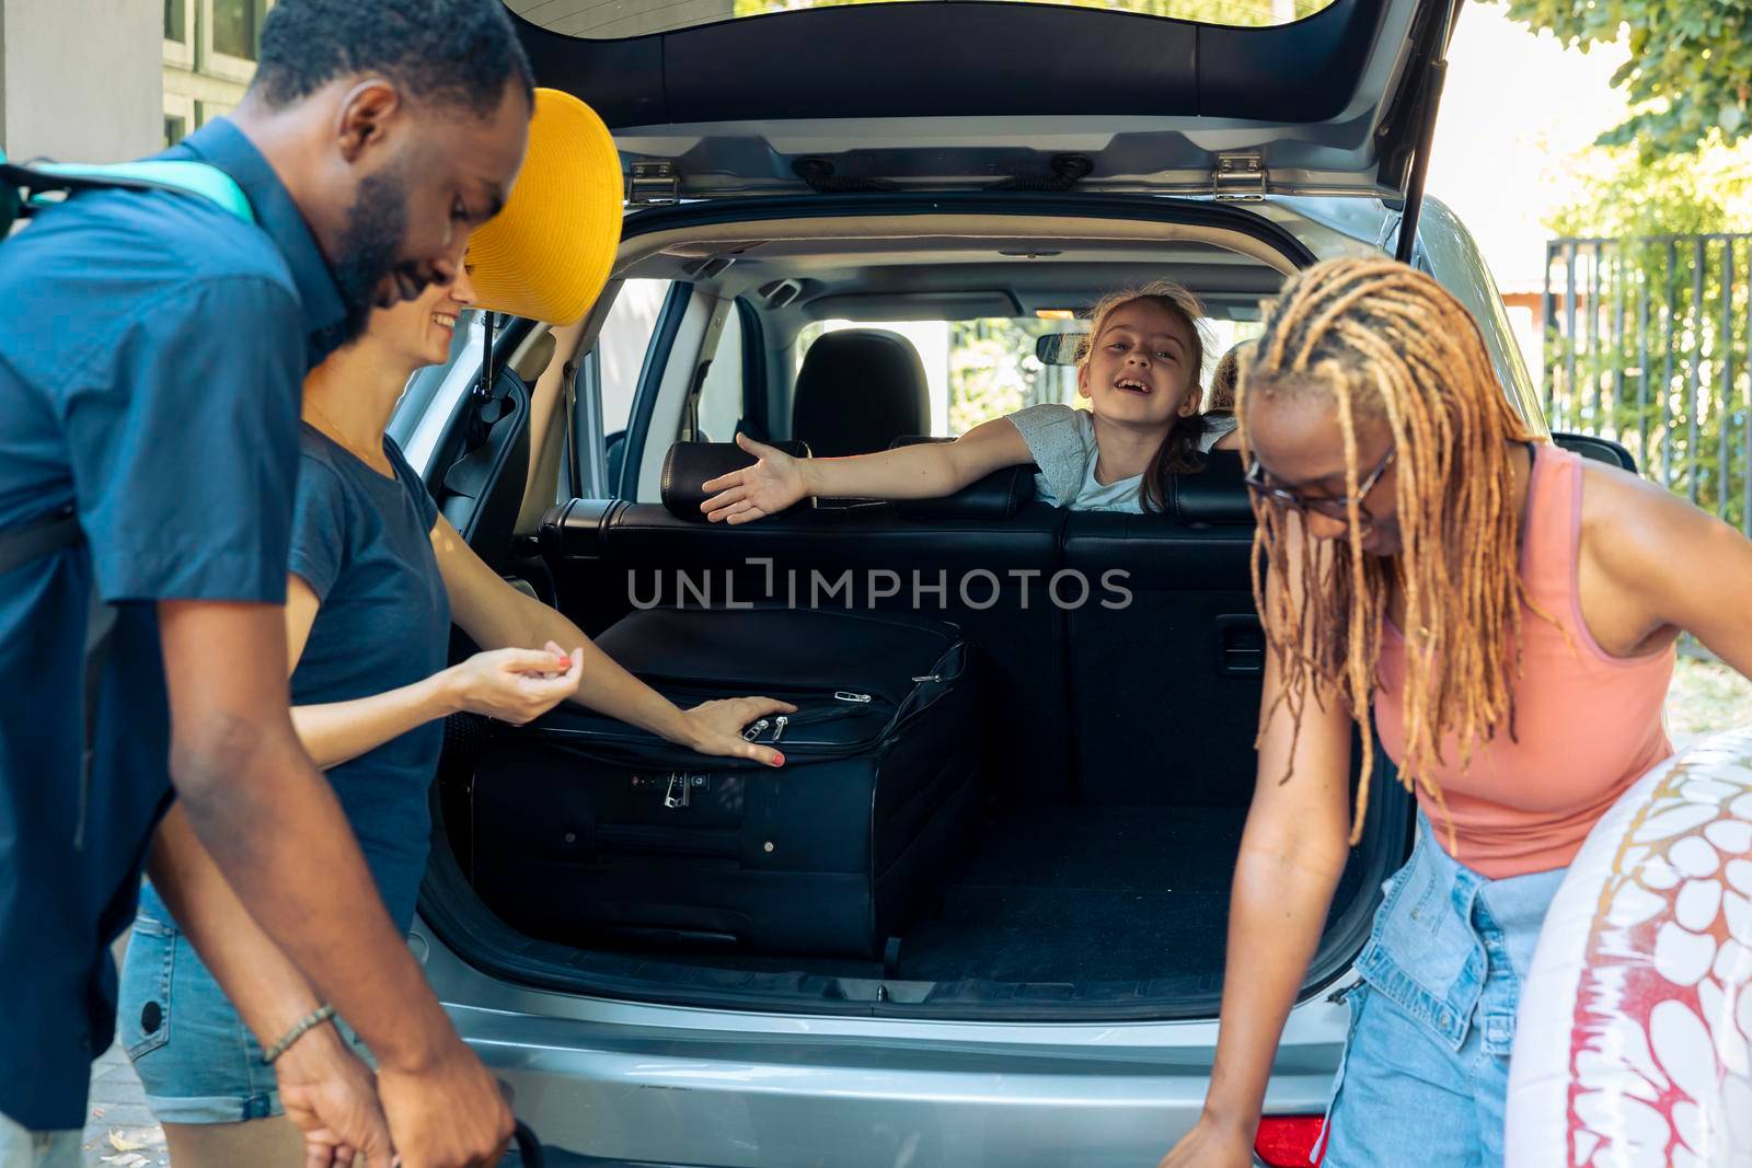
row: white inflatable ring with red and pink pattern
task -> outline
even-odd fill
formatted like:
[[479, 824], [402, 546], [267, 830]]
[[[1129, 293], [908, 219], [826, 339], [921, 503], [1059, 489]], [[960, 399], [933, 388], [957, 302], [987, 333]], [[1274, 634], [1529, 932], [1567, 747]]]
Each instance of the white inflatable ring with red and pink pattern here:
[[1752, 1164], [1752, 730], [1594, 825], [1540, 930], [1508, 1168]]

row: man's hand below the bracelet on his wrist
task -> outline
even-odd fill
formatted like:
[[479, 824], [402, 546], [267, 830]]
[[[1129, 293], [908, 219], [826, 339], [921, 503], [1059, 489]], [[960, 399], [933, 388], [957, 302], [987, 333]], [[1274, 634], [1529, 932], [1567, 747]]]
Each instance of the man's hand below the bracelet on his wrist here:
[[389, 1124], [371, 1070], [335, 1026], [317, 1026], [273, 1061], [286, 1117], [305, 1135], [305, 1168], [391, 1168]]

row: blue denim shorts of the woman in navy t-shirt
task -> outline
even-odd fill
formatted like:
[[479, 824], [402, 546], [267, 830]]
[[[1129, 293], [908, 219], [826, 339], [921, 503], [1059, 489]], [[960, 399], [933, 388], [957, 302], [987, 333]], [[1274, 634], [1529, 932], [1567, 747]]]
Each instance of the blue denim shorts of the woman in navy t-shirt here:
[[[170, 914], [145, 897], [121, 968], [116, 1033], [158, 1122], [228, 1124], [280, 1115], [273, 1068]], [[357, 1037], [335, 1019], [343, 1038]]]

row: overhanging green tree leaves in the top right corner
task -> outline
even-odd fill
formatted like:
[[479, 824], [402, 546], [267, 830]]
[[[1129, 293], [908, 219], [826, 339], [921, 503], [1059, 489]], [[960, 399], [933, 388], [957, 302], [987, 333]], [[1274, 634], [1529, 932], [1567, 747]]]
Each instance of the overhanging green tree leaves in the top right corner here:
[[1729, 144], [1752, 133], [1752, 0], [1508, 0], [1508, 16], [1582, 47], [1628, 30], [1631, 54], [1612, 82], [1633, 110], [1601, 145], [1635, 145], [1647, 161], [1712, 131]]

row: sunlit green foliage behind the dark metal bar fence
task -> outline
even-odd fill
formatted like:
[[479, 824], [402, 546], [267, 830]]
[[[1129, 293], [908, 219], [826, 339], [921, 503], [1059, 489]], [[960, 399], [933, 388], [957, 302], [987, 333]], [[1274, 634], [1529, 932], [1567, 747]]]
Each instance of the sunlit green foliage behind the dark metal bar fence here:
[[[1575, 194], [1545, 226], [1605, 243], [1561, 245], [1549, 273], [1552, 426], [1622, 441], [1650, 478], [1747, 527], [1752, 137], [1649, 159], [1593, 147], [1566, 170]], [[1706, 238], [1727, 233], [1741, 236]]]

